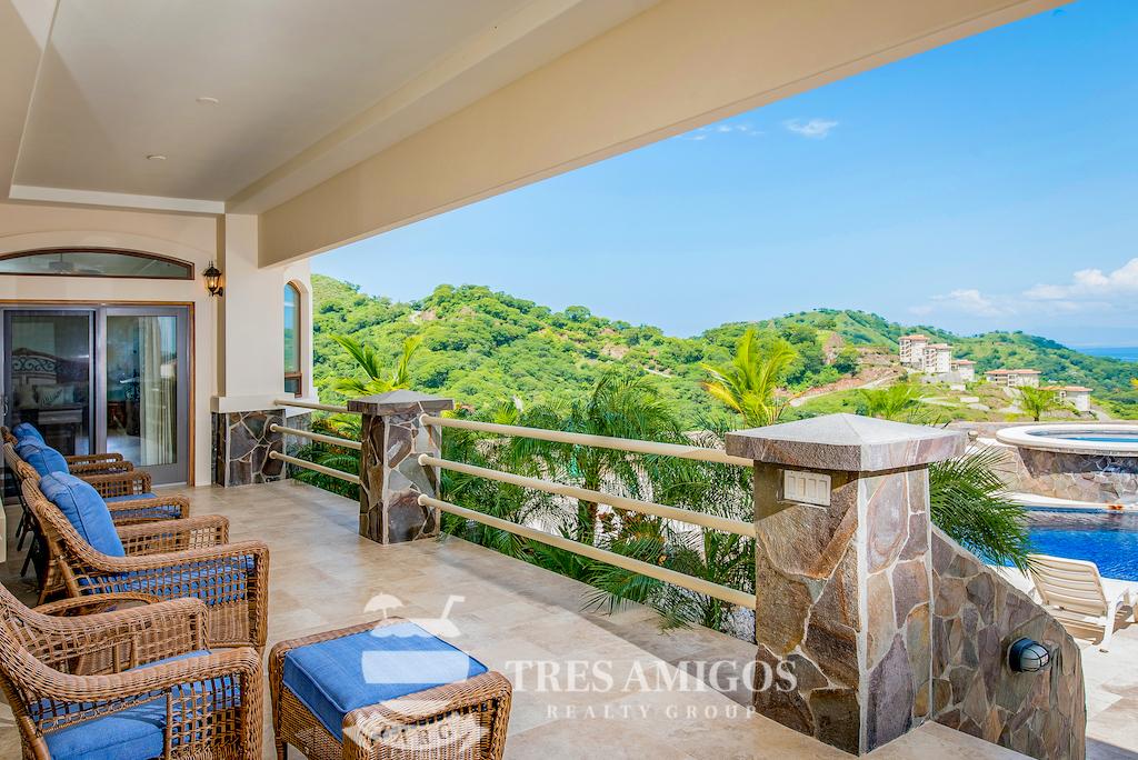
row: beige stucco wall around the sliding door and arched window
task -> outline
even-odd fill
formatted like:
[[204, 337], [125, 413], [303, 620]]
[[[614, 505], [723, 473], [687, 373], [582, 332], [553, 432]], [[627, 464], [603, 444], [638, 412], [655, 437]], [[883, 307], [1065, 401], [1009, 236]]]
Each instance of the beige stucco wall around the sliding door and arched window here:
[[[205, 486], [212, 459], [211, 411], [264, 408], [281, 394], [284, 283], [295, 281], [311, 292], [306, 262], [256, 267], [256, 217], [234, 223], [214, 216], [0, 203], [0, 254], [55, 246], [132, 248], [192, 262], [197, 275], [192, 281], [0, 275], [0, 300], [191, 304], [193, 480]], [[200, 278], [211, 259], [224, 272], [222, 299], [209, 297]], [[311, 298], [305, 306], [307, 331]], [[311, 378], [307, 336], [302, 349]]]

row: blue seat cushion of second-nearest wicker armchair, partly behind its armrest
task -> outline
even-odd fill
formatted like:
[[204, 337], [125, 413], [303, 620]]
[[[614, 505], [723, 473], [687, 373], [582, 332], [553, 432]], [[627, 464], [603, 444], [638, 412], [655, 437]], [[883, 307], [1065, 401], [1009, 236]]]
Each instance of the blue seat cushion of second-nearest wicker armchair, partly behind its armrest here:
[[[160, 576], [127, 572], [113, 579], [109, 588], [100, 592], [138, 592], [156, 594], [163, 598], [192, 596], [206, 604], [239, 602], [245, 598], [249, 585], [249, 571], [255, 560], [251, 556], [234, 556], [208, 562], [188, 562], [164, 571]], [[205, 583], [205, 581], [209, 583]], [[80, 585], [90, 585], [80, 578]], [[213, 597], [209, 592], [213, 589]], [[218, 593], [220, 592], [220, 593]]]

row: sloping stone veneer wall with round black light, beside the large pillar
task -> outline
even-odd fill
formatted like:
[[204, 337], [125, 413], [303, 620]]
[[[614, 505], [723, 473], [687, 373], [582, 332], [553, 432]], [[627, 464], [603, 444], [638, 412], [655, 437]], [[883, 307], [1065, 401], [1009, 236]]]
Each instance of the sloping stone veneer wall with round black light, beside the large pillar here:
[[[935, 527], [932, 587], [933, 720], [1033, 758], [1081, 760], [1087, 701], [1071, 635]], [[1048, 670], [1008, 668], [1021, 637], [1047, 645]]]

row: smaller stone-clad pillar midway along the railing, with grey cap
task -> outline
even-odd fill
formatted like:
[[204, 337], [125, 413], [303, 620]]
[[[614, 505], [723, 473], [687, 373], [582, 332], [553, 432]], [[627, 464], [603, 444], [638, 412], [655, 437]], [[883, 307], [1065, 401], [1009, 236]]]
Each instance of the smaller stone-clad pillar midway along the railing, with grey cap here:
[[363, 415], [360, 452], [360, 535], [380, 544], [399, 544], [438, 535], [438, 510], [419, 505], [419, 495], [436, 496], [438, 472], [419, 464], [420, 454], [438, 456], [440, 430], [419, 423], [420, 414], [454, 408], [450, 398], [393, 390], [353, 398]]

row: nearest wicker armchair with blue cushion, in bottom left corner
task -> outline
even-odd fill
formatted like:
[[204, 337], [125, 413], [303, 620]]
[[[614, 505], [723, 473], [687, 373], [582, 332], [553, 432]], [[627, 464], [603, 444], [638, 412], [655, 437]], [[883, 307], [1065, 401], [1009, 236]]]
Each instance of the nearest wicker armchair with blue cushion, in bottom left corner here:
[[[209, 612], [181, 598], [55, 617], [0, 586], [0, 687], [26, 760], [112, 741], [122, 757], [259, 758], [261, 656], [209, 652]], [[82, 661], [98, 675], [76, 675]]]

